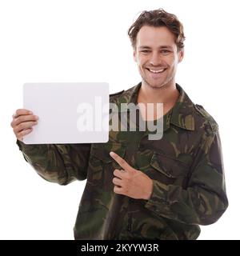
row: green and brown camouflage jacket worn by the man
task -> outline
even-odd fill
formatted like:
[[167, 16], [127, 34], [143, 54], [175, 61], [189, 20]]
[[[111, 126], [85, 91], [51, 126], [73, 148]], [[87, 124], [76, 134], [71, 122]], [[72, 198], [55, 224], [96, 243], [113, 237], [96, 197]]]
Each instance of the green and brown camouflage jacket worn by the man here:
[[[141, 86], [110, 95], [137, 102]], [[196, 239], [198, 225], [214, 223], [228, 206], [218, 125], [177, 85], [179, 98], [164, 115], [163, 137], [150, 131], [110, 131], [97, 144], [25, 145], [24, 158], [42, 178], [66, 185], [86, 179], [75, 239]], [[114, 151], [153, 179], [149, 200], [114, 194]]]

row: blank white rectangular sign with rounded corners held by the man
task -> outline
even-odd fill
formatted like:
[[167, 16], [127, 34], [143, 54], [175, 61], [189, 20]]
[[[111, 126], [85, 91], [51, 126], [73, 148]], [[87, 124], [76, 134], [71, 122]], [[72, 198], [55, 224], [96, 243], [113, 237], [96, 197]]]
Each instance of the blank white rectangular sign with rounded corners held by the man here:
[[44, 82], [23, 85], [23, 108], [38, 115], [26, 144], [107, 142], [109, 85], [106, 82]]

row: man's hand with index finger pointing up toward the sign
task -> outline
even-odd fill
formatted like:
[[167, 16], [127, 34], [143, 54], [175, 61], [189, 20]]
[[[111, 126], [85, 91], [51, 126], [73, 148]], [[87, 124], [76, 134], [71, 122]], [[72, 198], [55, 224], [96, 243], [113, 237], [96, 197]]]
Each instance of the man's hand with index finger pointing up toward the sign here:
[[152, 179], [142, 171], [134, 169], [118, 154], [110, 152], [110, 156], [122, 167], [122, 170], [114, 170], [114, 193], [148, 200], [153, 190]]

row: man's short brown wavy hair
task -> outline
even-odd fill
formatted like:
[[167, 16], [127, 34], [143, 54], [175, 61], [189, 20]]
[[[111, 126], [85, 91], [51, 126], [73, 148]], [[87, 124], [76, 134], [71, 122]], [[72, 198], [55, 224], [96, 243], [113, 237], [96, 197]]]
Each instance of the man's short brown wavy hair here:
[[184, 48], [183, 41], [185, 40], [185, 36], [183, 33], [183, 26], [176, 15], [167, 13], [162, 8], [158, 10], [142, 11], [137, 20], [128, 30], [128, 35], [134, 49], [136, 46], [138, 32], [142, 26], [166, 26], [166, 28], [174, 34], [178, 50]]

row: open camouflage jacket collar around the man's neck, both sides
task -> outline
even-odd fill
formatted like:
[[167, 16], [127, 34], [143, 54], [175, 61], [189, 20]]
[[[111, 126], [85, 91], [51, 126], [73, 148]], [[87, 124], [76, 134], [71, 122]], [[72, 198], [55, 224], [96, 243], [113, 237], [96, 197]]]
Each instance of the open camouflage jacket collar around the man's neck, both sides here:
[[[127, 111], [126, 105], [129, 103], [137, 104], [138, 91], [142, 86], [142, 82], [137, 86], [126, 90], [118, 99], [119, 110]], [[179, 91], [178, 101], [174, 107], [164, 115], [164, 130], [170, 127], [170, 123], [185, 130], [194, 130], [194, 103], [187, 96], [186, 92], [176, 83]], [[120, 108], [121, 103], [127, 103], [125, 107]]]

